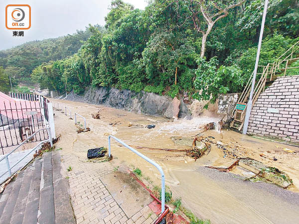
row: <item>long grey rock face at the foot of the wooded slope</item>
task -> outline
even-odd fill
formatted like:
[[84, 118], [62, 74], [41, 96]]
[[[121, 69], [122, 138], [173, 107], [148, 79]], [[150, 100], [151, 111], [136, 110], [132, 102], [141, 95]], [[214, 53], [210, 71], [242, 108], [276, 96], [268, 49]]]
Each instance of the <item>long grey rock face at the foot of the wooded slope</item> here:
[[136, 93], [130, 90], [119, 90], [109, 87], [88, 87], [84, 96], [71, 92], [66, 100], [104, 105], [153, 116], [170, 118], [174, 116], [177, 118], [190, 115], [186, 104], [182, 100], [177, 98], [171, 99], [168, 96], [159, 96], [144, 91]]

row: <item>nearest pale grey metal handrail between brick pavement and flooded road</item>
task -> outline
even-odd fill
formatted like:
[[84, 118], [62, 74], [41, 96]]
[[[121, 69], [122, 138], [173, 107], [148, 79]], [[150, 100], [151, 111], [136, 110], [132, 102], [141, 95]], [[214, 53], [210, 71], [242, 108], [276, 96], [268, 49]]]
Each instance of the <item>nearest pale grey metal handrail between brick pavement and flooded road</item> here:
[[148, 161], [150, 164], [152, 164], [153, 166], [155, 166], [158, 169], [158, 171], [161, 174], [161, 213], [163, 213], [164, 210], [165, 210], [165, 177], [164, 177], [164, 172], [163, 172], [162, 168], [156, 162], [152, 161], [151, 159], [146, 157], [144, 154], [140, 153], [139, 151], [132, 148], [130, 145], [127, 145], [125, 142], [123, 142], [122, 140], [114, 137], [113, 135], [108, 136], [108, 144], [109, 144], [108, 153], [109, 153], [109, 157], [111, 156], [111, 143], [110, 143], [110, 138], [111, 137], [114, 138], [117, 142], [119, 142], [122, 145], [124, 145], [125, 147], [127, 147], [128, 149], [130, 149], [135, 154], [139, 155], [140, 157], [142, 157], [143, 159]]

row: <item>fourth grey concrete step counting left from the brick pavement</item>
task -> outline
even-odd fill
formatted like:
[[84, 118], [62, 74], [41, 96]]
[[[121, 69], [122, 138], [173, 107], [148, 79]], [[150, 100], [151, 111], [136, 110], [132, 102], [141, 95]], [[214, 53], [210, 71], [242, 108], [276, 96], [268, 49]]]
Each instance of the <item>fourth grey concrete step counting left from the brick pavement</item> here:
[[22, 185], [20, 187], [20, 192], [16, 200], [16, 204], [11, 216], [10, 224], [22, 224], [24, 218], [24, 210], [26, 208], [28, 193], [30, 189], [31, 179], [34, 173], [33, 163], [21, 171], [24, 173]]

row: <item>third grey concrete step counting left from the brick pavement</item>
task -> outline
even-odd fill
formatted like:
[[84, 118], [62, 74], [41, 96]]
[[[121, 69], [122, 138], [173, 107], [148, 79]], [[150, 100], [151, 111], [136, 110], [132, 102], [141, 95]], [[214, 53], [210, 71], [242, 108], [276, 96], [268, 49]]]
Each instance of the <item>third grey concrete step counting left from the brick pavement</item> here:
[[41, 157], [36, 158], [34, 161], [34, 171], [24, 211], [23, 224], [37, 223], [42, 161]]

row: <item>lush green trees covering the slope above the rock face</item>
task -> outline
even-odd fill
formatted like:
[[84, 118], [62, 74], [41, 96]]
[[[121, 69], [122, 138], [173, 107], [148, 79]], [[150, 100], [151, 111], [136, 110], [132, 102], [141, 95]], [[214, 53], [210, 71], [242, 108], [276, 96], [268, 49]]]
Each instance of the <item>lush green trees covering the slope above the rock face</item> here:
[[[35, 52], [31, 67], [14, 66], [24, 45], [0, 63], [7, 74], [32, 71], [42, 88], [60, 93], [94, 85], [171, 97], [184, 91], [214, 103], [219, 93], [241, 91], [252, 73], [263, 7], [263, 0], [151, 0], [140, 10], [113, 0], [105, 28], [90, 25], [86, 36], [76, 34], [82, 45], [72, 39], [78, 51], [52, 43], [60, 50], [44, 56], [45, 48]], [[298, 40], [298, 18], [297, 0], [269, 1], [260, 65]]]

